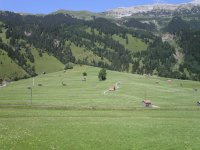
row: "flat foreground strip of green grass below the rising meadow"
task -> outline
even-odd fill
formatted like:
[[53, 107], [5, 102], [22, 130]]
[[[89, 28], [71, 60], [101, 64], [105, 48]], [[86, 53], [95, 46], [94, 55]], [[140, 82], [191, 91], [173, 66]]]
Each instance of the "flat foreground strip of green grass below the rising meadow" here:
[[200, 109], [0, 109], [0, 149], [199, 149]]

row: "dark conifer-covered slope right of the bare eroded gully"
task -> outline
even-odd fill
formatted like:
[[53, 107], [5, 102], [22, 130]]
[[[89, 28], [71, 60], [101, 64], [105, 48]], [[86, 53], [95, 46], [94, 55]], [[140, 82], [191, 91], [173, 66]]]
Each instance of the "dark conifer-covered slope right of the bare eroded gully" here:
[[175, 77], [200, 80], [200, 21], [178, 16], [172, 18], [164, 30], [174, 36], [180, 46], [179, 53], [184, 56], [178, 70], [179, 75], [177, 72]]

